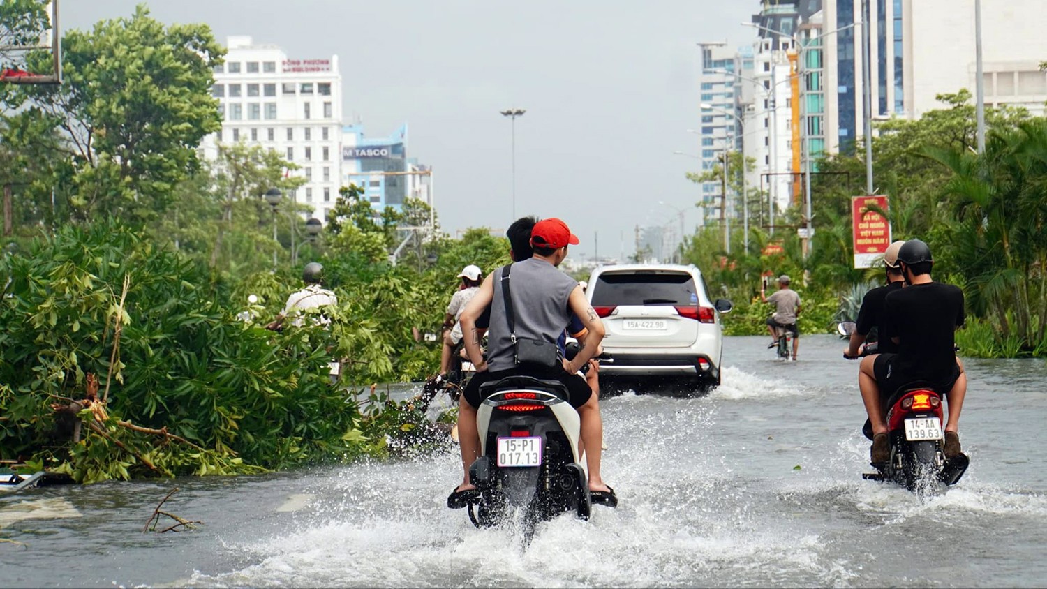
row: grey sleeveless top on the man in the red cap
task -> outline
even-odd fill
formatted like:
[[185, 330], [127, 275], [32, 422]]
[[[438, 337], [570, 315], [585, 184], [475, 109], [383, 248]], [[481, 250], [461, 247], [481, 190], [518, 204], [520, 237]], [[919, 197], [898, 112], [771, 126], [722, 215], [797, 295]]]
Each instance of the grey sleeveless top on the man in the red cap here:
[[[505, 295], [502, 294], [503, 270], [498, 268], [494, 271], [494, 297], [491, 299], [491, 322], [487, 331], [487, 362], [492, 371], [516, 366], [506, 319]], [[509, 282], [516, 337], [541, 339], [555, 344], [571, 316], [567, 299], [578, 282], [537, 257], [513, 264]]]

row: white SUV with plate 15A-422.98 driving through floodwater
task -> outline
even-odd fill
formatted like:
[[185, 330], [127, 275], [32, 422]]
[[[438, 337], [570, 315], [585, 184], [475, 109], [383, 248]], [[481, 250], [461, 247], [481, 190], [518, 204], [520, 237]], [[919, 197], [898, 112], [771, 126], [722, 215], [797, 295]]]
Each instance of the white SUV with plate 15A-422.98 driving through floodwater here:
[[720, 383], [720, 314], [733, 305], [709, 298], [693, 265], [601, 267], [589, 276], [586, 296], [603, 318], [603, 347], [614, 357], [601, 365], [601, 377], [684, 379], [698, 391]]

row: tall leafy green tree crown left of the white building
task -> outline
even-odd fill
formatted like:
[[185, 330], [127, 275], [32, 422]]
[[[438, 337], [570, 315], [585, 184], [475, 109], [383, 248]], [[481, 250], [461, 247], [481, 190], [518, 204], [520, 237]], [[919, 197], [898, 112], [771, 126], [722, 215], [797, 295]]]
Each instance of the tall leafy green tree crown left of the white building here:
[[221, 127], [210, 86], [224, 49], [206, 25], [165, 27], [144, 5], [90, 32], [70, 30], [62, 45], [64, 83], [20, 87], [8, 104], [61, 132], [71, 212], [138, 222], [163, 213], [174, 186], [199, 167], [200, 139]]

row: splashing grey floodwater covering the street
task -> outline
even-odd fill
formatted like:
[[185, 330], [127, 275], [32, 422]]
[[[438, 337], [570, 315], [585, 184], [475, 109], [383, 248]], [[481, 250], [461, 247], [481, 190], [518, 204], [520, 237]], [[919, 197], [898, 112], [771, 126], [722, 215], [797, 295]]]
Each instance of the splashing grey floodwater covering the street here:
[[[1047, 580], [1047, 363], [965, 362], [971, 468], [917, 496], [862, 480], [857, 364], [832, 336], [781, 363], [728, 338], [698, 399], [602, 403], [620, 506], [475, 529], [444, 501], [458, 455], [0, 497], [6, 587], [1034, 587]], [[142, 534], [157, 502], [204, 524]]]

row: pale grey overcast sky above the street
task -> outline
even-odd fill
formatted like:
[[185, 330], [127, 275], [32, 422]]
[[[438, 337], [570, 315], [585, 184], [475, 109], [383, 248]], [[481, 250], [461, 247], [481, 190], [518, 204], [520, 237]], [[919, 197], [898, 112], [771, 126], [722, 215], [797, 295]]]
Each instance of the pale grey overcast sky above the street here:
[[[130, 16], [138, 0], [62, 3], [63, 28]], [[160, 21], [204, 22], [225, 43], [248, 35], [292, 59], [337, 54], [347, 122], [367, 137], [409, 127], [407, 155], [433, 166], [441, 225], [560, 217], [572, 257], [633, 251], [637, 225], [688, 232], [698, 186], [698, 41], [750, 43], [757, 0], [154, 0]], [[661, 205], [665, 201], [671, 206]]]

